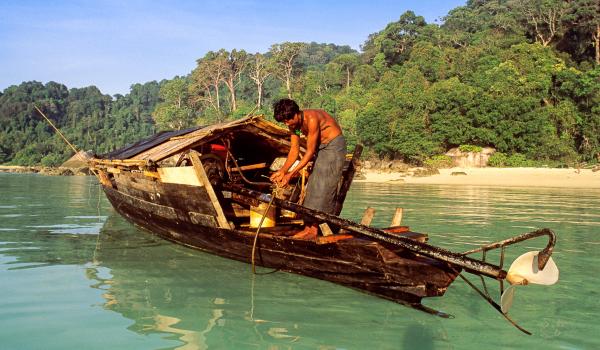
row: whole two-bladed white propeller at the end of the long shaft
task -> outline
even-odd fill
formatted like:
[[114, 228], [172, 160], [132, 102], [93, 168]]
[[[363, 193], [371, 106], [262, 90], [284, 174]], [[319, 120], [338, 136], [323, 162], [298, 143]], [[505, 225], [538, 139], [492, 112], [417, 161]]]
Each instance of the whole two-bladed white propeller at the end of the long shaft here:
[[519, 256], [510, 265], [506, 280], [511, 284], [504, 290], [500, 297], [502, 313], [507, 314], [513, 304], [517, 286], [526, 286], [530, 283], [550, 286], [558, 281], [558, 267], [551, 257], [547, 257], [545, 266], [539, 268], [539, 253], [527, 252]]

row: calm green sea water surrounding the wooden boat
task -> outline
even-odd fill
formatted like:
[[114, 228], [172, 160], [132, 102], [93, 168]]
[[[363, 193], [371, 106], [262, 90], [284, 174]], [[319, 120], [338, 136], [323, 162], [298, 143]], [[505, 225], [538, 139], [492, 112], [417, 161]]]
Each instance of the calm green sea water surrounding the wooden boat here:
[[453, 251], [555, 230], [559, 283], [522, 287], [511, 309], [533, 335], [461, 280], [425, 301], [454, 316], [442, 319], [306, 277], [253, 278], [249, 265], [131, 226], [91, 177], [0, 174], [0, 348], [600, 348], [600, 189], [357, 183], [346, 203], [355, 220], [375, 208], [379, 226], [403, 207], [404, 224]]

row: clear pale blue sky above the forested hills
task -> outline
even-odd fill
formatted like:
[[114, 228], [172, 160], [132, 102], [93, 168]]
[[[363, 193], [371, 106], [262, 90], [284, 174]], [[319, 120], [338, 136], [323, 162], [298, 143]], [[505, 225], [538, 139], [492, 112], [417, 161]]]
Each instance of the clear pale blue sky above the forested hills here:
[[130, 86], [187, 75], [208, 51], [349, 45], [407, 10], [441, 23], [466, 0], [1, 0], [0, 91], [23, 81]]

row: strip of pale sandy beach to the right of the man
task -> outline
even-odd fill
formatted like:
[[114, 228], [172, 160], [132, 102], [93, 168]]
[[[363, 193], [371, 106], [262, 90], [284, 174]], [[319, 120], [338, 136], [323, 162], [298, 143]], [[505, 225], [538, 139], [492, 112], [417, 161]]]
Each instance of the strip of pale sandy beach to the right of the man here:
[[477, 185], [507, 187], [561, 187], [600, 189], [600, 171], [549, 168], [451, 168], [437, 175], [416, 177], [409, 173], [363, 170], [357, 182], [397, 184]]

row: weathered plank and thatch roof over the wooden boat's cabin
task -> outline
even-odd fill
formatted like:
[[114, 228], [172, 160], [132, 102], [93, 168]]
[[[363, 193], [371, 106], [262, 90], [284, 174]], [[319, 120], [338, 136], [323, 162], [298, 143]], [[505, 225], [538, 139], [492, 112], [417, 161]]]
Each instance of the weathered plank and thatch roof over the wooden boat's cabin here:
[[158, 162], [185, 149], [218, 139], [224, 133], [234, 130], [246, 130], [270, 139], [276, 146], [289, 148], [289, 130], [265, 120], [262, 115], [257, 115], [205, 127], [161, 132], [99, 158]]

